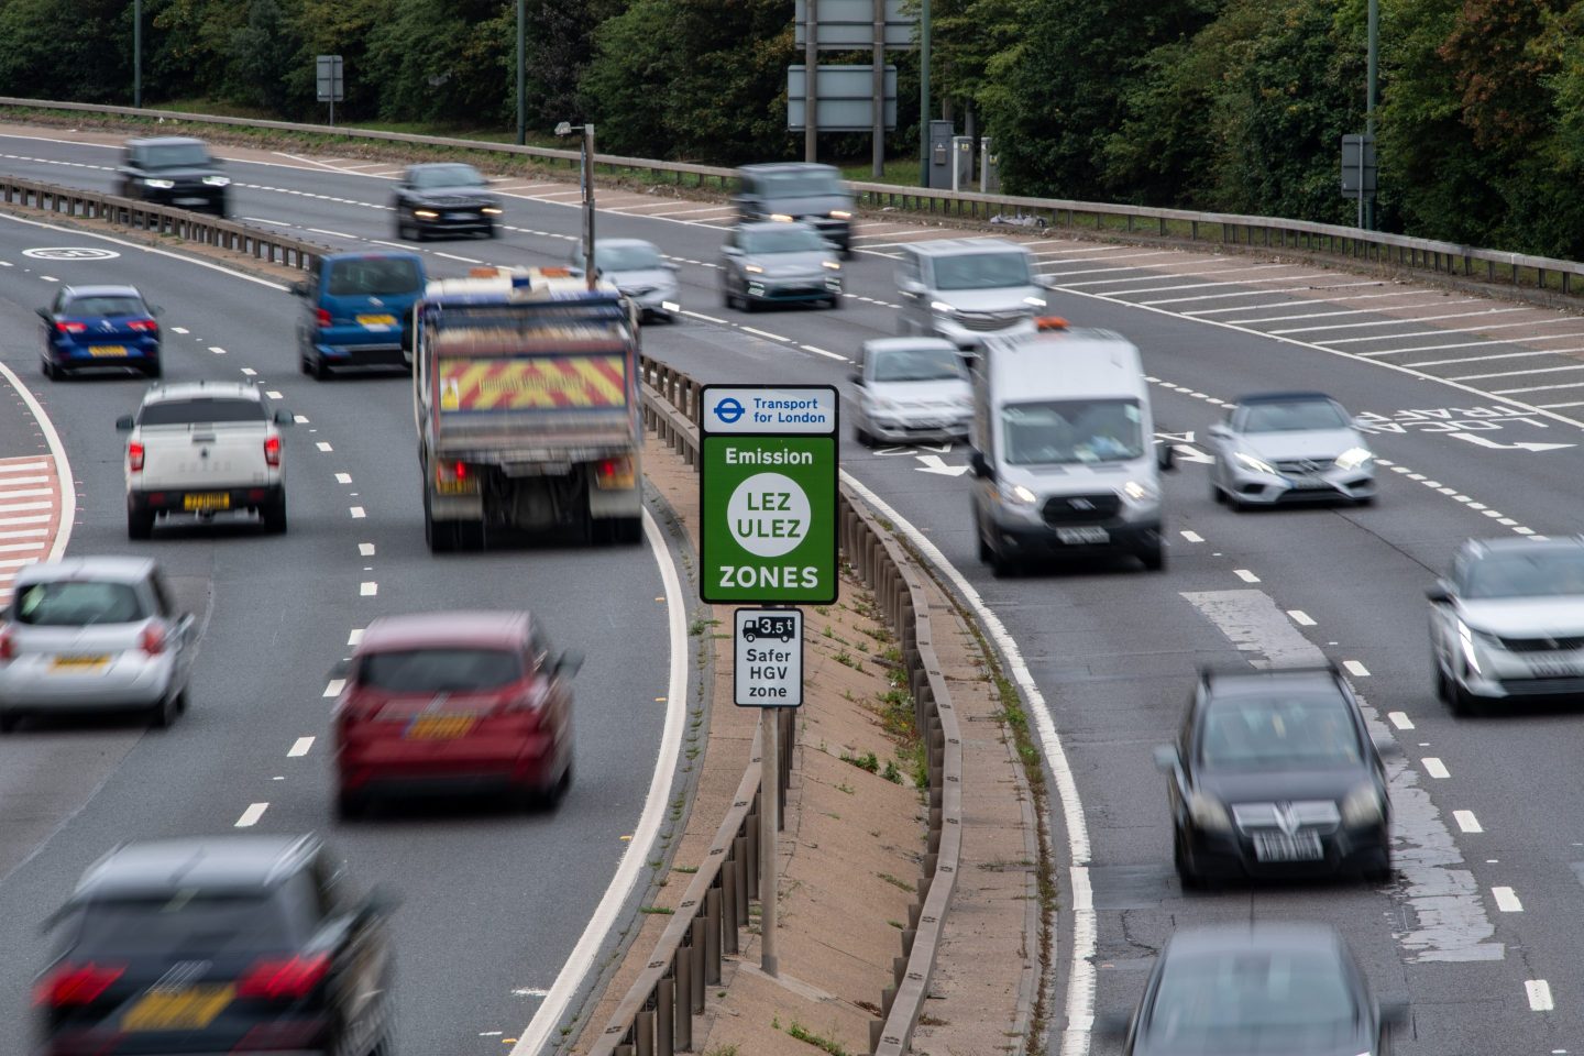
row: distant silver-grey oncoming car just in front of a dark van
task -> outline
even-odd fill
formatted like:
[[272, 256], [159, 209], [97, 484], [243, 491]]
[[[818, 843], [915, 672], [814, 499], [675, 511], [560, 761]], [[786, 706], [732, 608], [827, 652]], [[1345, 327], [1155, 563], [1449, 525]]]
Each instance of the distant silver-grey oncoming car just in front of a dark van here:
[[752, 312], [760, 304], [841, 307], [841, 261], [811, 225], [743, 223], [721, 247], [721, 301]]

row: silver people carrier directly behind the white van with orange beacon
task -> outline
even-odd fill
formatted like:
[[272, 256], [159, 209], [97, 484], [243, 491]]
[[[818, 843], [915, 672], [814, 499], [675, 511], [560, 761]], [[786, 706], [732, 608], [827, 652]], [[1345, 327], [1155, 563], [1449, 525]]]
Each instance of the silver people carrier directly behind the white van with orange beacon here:
[[1045, 309], [1034, 255], [1006, 239], [941, 239], [901, 247], [903, 334], [976, 350], [992, 334], [1028, 334]]

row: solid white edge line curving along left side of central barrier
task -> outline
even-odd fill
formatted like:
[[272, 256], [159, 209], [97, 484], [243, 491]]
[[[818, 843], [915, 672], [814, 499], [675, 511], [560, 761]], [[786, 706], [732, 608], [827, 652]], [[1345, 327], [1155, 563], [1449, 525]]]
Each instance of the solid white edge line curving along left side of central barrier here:
[[532, 1021], [518, 1035], [510, 1056], [537, 1056], [545, 1042], [550, 1040], [550, 1035], [559, 1029], [561, 1016], [594, 966], [596, 953], [605, 945], [611, 928], [616, 926], [616, 915], [638, 882], [638, 874], [649, 860], [649, 849], [661, 833], [661, 822], [665, 820], [672, 776], [675, 774], [676, 757], [683, 744], [683, 720], [687, 714], [687, 598], [683, 594], [681, 576], [676, 575], [676, 562], [672, 560], [672, 553], [665, 548], [665, 537], [661, 535], [661, 527], [649, 516], [648, 510], [643, 511], [643, 534], [649, 540], [654, 564], [659, 565], [661, 581], [665, 584], [665, 608], [672, 641], [670, 692], [665, 697], [665, 731], [661, 736], [661, 750], [654, 758], [649, 795], [643, 801], [643, 814], [632, 831], [632, 839], [627, 841], [627, 850], [623, 852], [621, 861], [616, 864], [616, 874], [611, 877], [610, 887], [605, 888], [605, 896], [600, 898], [594, 915], [589, 917], [588, 926], [578, 937], [565, 964], [561, 966], [561, 972], [556, 975], [556, 982], [551, 983], [545, 1001], [540, 1002], [539, 1012], [534, 1013]]

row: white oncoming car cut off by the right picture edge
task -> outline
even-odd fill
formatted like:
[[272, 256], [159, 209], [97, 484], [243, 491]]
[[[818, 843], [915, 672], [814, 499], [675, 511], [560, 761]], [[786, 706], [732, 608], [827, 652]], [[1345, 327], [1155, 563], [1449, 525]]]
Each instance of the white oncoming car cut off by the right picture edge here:
[[1435, 692], [1453, 711], [1584, 700], [1584, 535], [1468, 540], [1427, 594]]

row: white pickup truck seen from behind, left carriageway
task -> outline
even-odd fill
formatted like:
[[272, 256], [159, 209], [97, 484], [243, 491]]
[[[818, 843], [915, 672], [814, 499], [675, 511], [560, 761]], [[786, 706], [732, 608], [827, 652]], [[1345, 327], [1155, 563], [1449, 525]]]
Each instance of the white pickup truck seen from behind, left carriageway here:
[[149, 538], [155, 518], [255, 511], [268, 532], [287, 530], [280, 431], [250, 385], [187, 382], [155, 385], [136, 415], [116, 421], [128, 432], [127, 535]]

